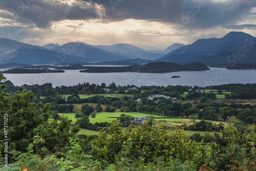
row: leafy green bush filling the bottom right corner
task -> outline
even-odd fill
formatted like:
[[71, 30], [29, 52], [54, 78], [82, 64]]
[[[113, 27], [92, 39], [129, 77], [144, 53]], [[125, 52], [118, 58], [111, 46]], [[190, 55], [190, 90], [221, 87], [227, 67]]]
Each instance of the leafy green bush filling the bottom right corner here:
[[210, 163], [214, 170], [253, 170], [256, 168], [256, 126], [226, 126], [220, 134], [214, 134]]

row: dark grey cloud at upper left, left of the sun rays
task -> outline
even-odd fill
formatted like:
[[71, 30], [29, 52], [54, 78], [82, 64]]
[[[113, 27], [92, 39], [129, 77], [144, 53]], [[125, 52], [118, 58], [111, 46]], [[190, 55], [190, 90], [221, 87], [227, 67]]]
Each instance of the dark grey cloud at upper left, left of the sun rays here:
[[50, 0], [1, 0], [0, 9], [13, 13], [12, 18], [18, 22], [30, 22], [38, 28], [48, 28], [51, 22], [64, 19], [91, 19], [97, 17], [94, 6], [84, 3], [69, 5]]

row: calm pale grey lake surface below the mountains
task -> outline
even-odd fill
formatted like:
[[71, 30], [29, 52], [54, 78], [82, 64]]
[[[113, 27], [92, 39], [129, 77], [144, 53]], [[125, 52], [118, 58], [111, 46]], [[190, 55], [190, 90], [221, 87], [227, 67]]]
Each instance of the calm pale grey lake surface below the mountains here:
[[[0, 69], [1, 71], [8, 69]], [[90, 84], [109, 85], [115, 82], [117, 85], [126, 86], [212, 86], [228, 83], [256, 83], [256, 70], [226, 70], [210, 68], [208, 71], [182, 71], [172, 73], [79, 73], [79, 70], [65, 70], [65, 73], [44, 74], [4, 74], [15, 86], [24, 84], [52, 83], [56, 86], [73, 86], [83, 82]], [[180, 78], [171, 78], [178, 75]]]

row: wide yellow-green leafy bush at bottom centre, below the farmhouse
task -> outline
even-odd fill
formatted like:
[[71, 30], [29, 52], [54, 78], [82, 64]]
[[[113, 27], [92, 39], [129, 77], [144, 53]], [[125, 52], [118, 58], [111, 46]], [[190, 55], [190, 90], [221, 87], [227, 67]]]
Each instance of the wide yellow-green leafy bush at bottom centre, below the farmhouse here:
[[134, 162], [153, 162], [154, 157], [164, 161], [178, 159], [181, 163], [201, 166], [206, 159], [206, 148], [185, 138], [183, 130], [171, 132], [165, 126], [144, 123], [134, 129], [121, 130], [117, 121], [109, 123], [109, 136], [101, 131], [99, 138], [92, 142], [92, 156], [97, 160], [115, 163], [117, 159], [128, 158]]

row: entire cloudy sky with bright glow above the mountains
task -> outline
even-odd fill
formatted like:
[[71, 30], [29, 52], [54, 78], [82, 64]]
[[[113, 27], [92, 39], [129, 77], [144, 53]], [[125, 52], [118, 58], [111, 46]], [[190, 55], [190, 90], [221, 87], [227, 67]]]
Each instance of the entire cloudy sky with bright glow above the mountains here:
[[256, 37], [255, 0], [1, 0], [0, 37], [32, 45], [175, 42], [243, 31]]

